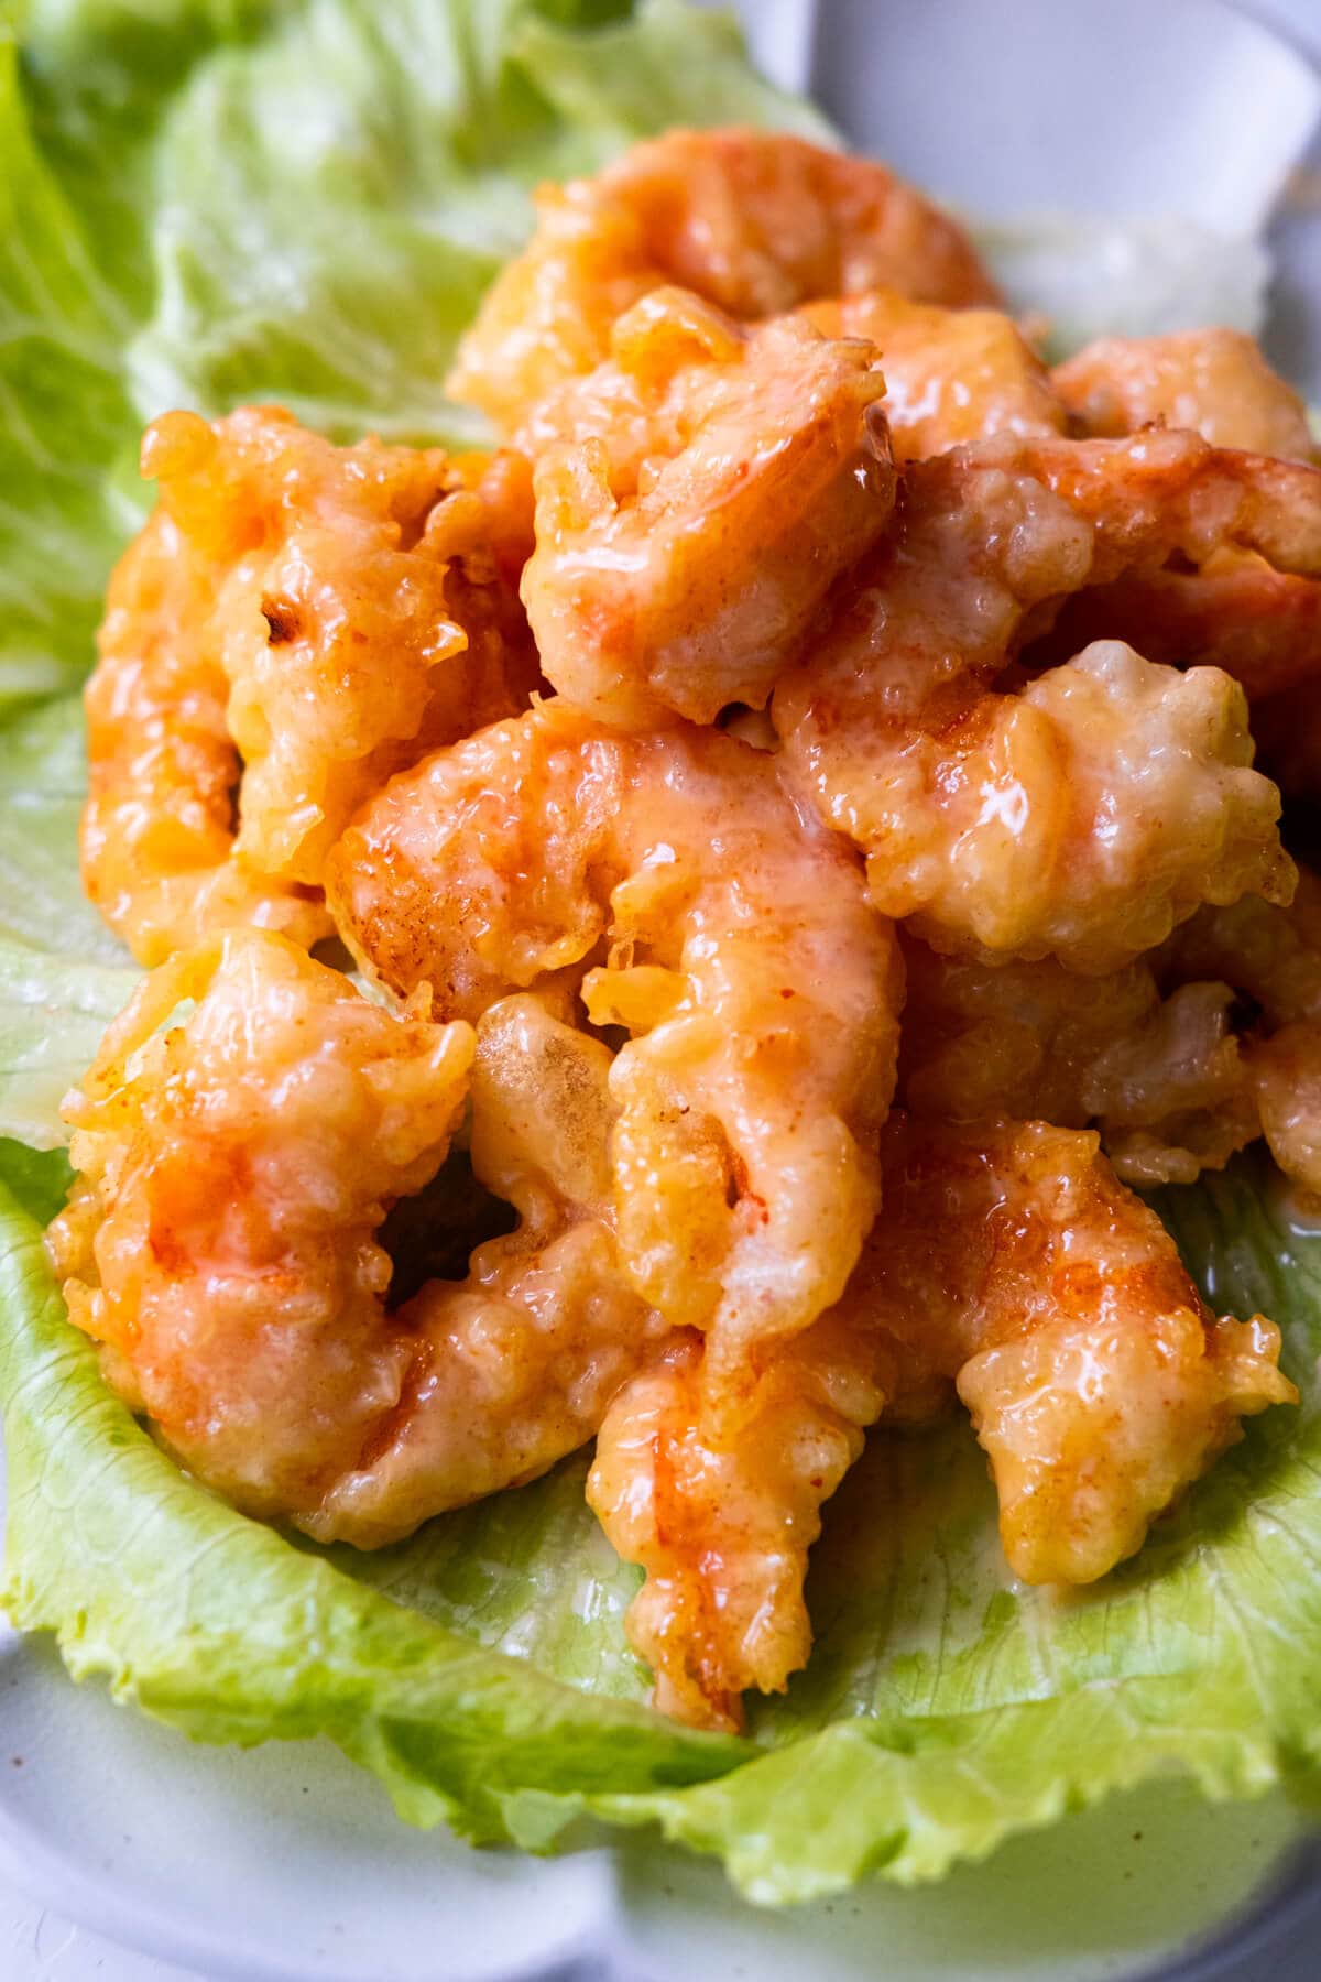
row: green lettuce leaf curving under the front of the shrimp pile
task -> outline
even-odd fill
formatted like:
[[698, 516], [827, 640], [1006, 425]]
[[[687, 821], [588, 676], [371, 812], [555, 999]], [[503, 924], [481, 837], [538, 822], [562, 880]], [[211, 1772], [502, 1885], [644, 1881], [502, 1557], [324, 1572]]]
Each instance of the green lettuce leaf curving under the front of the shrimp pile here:
[[[0, 1177], [50, 1209], [63, 1171], [14, 1156], [0, 1144]], [[582, 1461], [378, 1556], [291, 1546], [105, 1391], [38, 1221], [0, 1195], [4, 1605], [57, 1633], [73, 1677], [194, 1738], [325, 1732], [402, 1817], [473, 1839], [660, 1823], [762, 1903], [871, 1869], [933, 1879], [1151, 1778], [1220, 1798], [1315, 1780], [1321, 1235], [1252, 1167], [1167, 1209], [1212, 1298], [1281, 1320], [1301, 1411], [1252, 1423], [1133, 1564], [1066, 1599], [1008, 1578], [965, 1425], [873, 1437], [828, 1508], [812, 1665], [761, 1708], [759, 1754], [636, 1705], [634, 1580], [582, 1502]]]

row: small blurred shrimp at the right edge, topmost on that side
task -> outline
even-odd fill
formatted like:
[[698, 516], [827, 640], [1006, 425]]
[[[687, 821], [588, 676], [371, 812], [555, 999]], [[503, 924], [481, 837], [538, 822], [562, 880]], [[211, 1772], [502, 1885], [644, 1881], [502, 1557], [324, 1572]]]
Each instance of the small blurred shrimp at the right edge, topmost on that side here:
[[1216, 448], [1313, 460], [1303, 400], [1242, 331], [1101, 337], [1056, 365], [1050, 383], [1087, 434], [1184, 426]]

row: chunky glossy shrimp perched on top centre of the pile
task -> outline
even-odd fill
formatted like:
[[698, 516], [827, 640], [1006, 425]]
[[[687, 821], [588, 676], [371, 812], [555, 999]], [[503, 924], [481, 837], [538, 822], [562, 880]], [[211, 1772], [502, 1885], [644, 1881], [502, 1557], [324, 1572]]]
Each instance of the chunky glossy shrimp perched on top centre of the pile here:
[[521, 436], [541, 666], [628, 727], [761, 708], [893, 507], [875, 353], [794, 319], [749, 333], [681, 289], [630, 309], [610, 349]]

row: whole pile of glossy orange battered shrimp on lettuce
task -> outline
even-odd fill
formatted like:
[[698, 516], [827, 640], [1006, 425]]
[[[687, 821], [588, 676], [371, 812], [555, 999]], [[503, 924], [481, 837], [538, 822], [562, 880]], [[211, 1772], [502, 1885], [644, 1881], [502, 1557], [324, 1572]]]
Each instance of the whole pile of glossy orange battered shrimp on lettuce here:
[[743, 129], [545, 188], [450, 390], [489, 454], [147, 432], [81, 858], [149, 975], [50, 1247], [319, 1540], [594, 1439], [658, 1707], [739, 1726], [877, 1419], [961, 1401], [1067, 1586], [1295, 1401], [1135, 1191], [1321, 1193], [1321, 468], [1248, 337], [1048, 369], [917, 192]]

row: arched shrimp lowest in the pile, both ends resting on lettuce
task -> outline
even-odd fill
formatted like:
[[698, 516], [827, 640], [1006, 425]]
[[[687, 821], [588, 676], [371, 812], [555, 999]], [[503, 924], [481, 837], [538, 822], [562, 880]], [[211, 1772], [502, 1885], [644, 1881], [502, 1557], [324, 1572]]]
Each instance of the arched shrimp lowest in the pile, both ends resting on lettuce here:
[[703, 1427], [695, 1336], [602, 1423], [588, 1498], [646, 1570], [628, 1637], [681, 1720], [739, 1726], [741, 1693], [806, 1663], [820, 1508], [883, 1411], [931, 1415], [957, 1379], [1010, 1568], [1083, 1584], [1141, 1548], [1240, 1417], [1295, 1395], [1277, 1330], [1206, 1312], [1095, 1136], [895, 1114], [881, 1150], [881, 1215], [844, 1298], [772, 1348], [733, 1439]]

